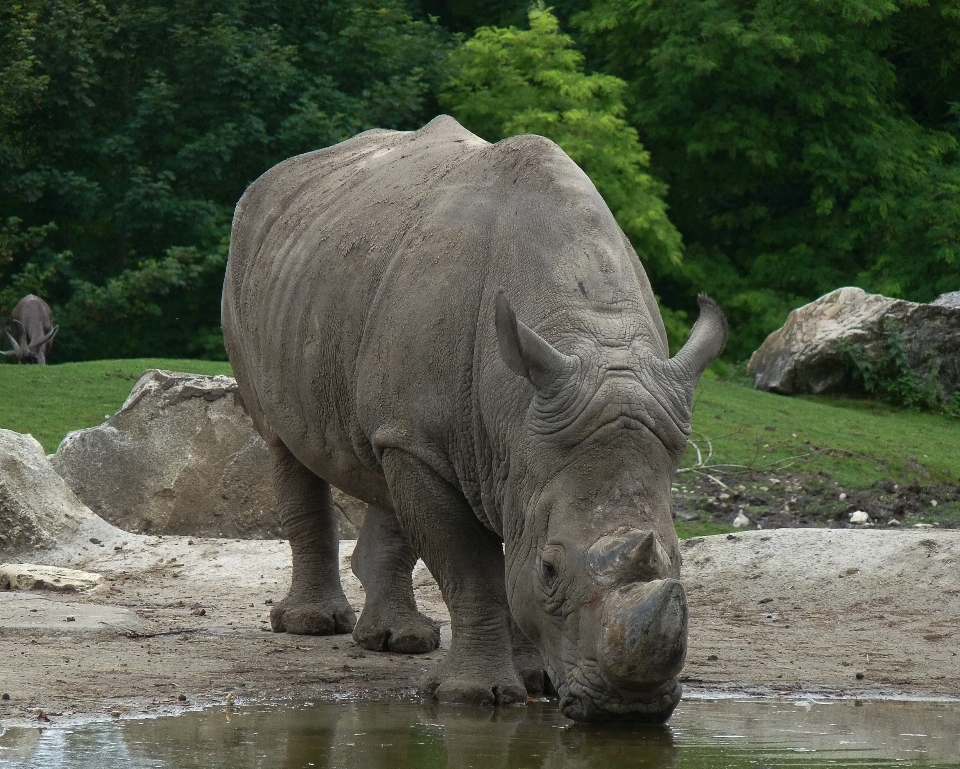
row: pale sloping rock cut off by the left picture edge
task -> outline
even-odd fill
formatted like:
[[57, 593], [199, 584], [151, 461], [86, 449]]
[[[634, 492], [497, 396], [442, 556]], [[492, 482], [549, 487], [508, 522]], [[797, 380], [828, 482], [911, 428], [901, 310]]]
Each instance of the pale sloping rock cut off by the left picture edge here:
[[32, 435], [0, 430], [0, 561], [112, 528], [77, 499]]

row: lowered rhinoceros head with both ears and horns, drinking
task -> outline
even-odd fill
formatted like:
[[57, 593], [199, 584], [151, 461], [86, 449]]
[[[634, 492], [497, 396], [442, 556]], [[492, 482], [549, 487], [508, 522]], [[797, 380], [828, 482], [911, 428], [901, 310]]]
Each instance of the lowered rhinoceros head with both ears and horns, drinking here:
[[727, 333], [711, 300], [700, 307], [667, 359], [629, 333], [560, 352], [497, 300], [501, 355], [535, 389], [510, 456], [510, 606], [578, 721], [665, 720], [680, 699], [687, 603], [670, 485], [693, 389]]

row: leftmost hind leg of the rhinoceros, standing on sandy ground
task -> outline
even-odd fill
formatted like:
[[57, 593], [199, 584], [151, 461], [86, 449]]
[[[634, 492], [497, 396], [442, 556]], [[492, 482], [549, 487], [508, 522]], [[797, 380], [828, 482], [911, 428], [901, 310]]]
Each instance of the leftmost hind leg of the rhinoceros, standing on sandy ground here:
[[277, 633], [349, 633], [357, 618], [340, 585], [340, 539], [330, 484], [282, 443], [271, 445], [270, 453], [280, 526], [293, 554], [290, 592], [271, 609], [270, 624]]

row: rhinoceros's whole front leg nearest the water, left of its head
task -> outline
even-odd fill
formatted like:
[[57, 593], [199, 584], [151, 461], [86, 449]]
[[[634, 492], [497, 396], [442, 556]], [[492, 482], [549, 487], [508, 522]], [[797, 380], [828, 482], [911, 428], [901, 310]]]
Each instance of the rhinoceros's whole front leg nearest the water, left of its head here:
[[453, 638], [420, 692], [441, 702], [523, 702], [510, 639], [503, 546], [459, 489], [406, 452], [384, 452], [383, 468], [400, 524], [440, 586]]

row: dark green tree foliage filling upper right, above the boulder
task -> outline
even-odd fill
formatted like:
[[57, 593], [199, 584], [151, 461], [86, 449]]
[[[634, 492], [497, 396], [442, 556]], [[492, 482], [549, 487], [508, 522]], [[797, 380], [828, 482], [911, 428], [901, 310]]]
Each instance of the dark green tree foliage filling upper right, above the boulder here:
[[[687, 258], [665, 298], [714, 294], [733, 356], [841, 285], [919, 301], [957, 288], [956, 9], [596, 0], [576, 17], [629, 83], [628, 119], [670, 185]], [[923, 63], [927, 33], [949, 51], [941, 69]]]

